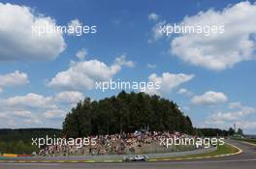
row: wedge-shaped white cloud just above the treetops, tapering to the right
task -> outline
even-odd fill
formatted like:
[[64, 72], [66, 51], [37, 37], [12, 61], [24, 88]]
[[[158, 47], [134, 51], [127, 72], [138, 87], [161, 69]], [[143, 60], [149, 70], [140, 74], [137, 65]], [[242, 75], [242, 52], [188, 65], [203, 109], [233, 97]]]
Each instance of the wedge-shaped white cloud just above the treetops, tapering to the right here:
[[164, 72], [162, 76], [157, 76], [157, 74], [152, 73], [148, 77], [149, 82], [159, 83], [160, 89], [147, 90], [148, 94], [161, 95], [162, 93], [171, 92], [174, 88], [182, 83], [190, 81], [194, 78], [194, 74], [184, 74], [184, 73], [170, 73]]

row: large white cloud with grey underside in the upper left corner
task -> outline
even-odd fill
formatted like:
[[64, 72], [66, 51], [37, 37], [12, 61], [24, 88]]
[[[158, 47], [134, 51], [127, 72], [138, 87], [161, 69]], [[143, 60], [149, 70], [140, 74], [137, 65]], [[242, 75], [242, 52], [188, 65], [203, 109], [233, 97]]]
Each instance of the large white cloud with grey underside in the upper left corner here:
[[65, 49], [60, 33], [33, 33], [32, 27], [56, 24], [49, 16], [35, 14], [29, 7], [0, 3], [0, 22], [0, 60], [52, 60]]

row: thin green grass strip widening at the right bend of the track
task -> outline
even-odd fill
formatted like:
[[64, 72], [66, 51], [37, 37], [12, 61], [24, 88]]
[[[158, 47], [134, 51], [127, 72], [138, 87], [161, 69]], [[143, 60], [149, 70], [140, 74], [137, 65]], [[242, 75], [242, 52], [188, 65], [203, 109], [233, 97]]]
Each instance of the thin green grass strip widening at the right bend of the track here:
[[224, 144], [223, 146], [218, 146], [217, 150], [207, 154], [201, 155], [185, 155], [185, 156], [174, 156], [174, 157], [165, 157], [165, 158], [154, 158], [154, 159], [185, 159], [185, 158], [192, 158], [192, 157], [206, 157], [206, 156], [216, 156], [216, 155], [228, 155], [228, 154], [235, 154], [238, 153], [239, 150], [229, 144]]

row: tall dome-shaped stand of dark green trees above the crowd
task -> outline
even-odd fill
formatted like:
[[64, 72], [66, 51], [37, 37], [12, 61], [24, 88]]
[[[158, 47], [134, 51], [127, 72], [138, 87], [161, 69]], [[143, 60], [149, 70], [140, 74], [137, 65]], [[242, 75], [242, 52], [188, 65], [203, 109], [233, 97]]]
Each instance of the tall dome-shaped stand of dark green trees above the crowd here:
[[134, 132], [137, 129], [194, 133], [190, 118], [184, 116], [175, 102], [124, 91], [112, 98], [80, 101], [63, 123], [63, 134], [67, 137]]

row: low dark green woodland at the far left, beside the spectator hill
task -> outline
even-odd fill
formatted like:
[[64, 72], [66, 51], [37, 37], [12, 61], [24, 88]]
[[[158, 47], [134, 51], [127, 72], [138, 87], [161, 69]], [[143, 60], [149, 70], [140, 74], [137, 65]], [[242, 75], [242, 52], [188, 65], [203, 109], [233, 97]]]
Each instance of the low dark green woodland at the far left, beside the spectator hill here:
[[32, 138], [48, 136], [61, 136], [61, 129], [53, 128], [20, 128], [0, 129], [0, 154], [30, 155], [38, 152], [36, 146], [32, 146]]

